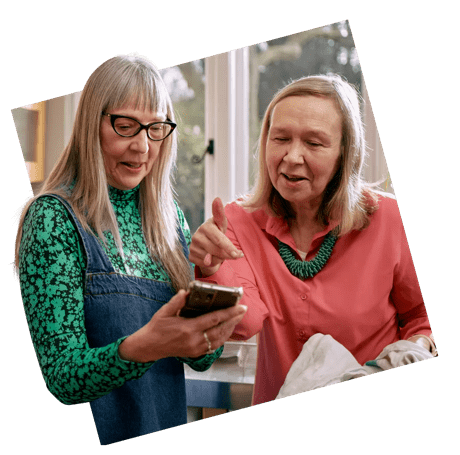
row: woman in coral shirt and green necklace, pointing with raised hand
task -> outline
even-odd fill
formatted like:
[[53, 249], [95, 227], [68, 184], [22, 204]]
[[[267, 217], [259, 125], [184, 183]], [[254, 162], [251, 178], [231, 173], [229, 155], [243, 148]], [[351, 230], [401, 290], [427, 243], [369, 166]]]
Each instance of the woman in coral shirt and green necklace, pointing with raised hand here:
[[315, 333], [361, 364], [400, 339], [435, 350], [397, 202], [362, 180], [364, 156], [355, 89], [299, 79], [265, 113], [254, 192], [216, 199], [192, 238], [199, 279], [244, 288], [233, 338], [260, 334], [255, 404], [275, 399]]

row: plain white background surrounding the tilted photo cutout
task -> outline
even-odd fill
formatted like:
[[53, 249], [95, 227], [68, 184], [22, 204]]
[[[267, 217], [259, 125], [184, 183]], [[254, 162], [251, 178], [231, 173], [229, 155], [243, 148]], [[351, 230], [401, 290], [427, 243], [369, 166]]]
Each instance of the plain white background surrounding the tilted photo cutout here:
[[[436, 2], [436, 10], [401, 1], [257, 3], [93, 0], [2, 7], [4, 453], [436, 453], [453, 441], [459, 270], [454, 11], [447, 1]], [[440, 357], [101, 448], [89, 406], [63, 406], [45, 389], [8, 265], [13, 215], [30, 195], [10, 109], [80, 90], [117, 53], [138, 51], [161, 68], [342, 19], [350, 21]]]

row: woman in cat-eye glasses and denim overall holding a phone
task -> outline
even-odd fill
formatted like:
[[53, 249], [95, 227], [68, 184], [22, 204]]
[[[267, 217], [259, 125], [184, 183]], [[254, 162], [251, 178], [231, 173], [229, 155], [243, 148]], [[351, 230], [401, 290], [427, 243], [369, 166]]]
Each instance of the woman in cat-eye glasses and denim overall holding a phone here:
[[107, 60], [19, 213], [15, 271], [42, 375], [60, 402], [90, 402], [101, 444], [187, 423], [183, 362], [209, 368], [246, 310], [178, 316], [192, 268], [175, 128], [155, 65]]

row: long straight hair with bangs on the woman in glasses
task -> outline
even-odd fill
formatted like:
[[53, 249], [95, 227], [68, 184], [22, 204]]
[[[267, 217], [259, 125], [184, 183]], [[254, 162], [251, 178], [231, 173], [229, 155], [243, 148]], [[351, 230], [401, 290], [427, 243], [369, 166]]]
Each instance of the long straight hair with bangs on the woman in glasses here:
[[[112, 57], [88, 78], [69, 144], [40, 193], [20, 209], [15, 244], [16, 267], [24, 215], [37, 197], [49, 193], [63, 196], [82, 226], [88, 231], [93, 229], [103, 241], [104, 231], [111, 231], [122, 254], [118, 224], [109, 200], [99, 128], [103, 111], [127, 104], [134, 109], [164, 112], [169, 120], [175, 120], [171, 98], [157, 67], [137, 53]], [[178, 217], [173, 199], [172, 171], [176, 155], [177, 137], [173, 132], [162, 142], [152, 171], [140, 184], [139, 211], [152, 259], [163, 265], [173, 287], [179, 290], [190, 281], [190, 267], [175, 228]]]

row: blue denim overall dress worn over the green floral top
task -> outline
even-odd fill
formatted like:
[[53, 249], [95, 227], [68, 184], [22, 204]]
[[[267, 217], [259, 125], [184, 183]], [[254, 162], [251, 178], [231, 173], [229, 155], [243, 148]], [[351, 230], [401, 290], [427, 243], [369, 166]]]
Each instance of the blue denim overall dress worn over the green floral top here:
[[[84, 290], [85, 326], [89, 346], [106, 346], [147, 324], [175, 294], [169, 283], [115, 272], [96, 237], [86, 232], [69, 204], [87, 257]], [[182, 230], [180, 241], [188, 247]], [[184, 369], [170, 357], [156, 361], [137, 380], [90, 403], [102, 445], [187, 423]]]

